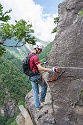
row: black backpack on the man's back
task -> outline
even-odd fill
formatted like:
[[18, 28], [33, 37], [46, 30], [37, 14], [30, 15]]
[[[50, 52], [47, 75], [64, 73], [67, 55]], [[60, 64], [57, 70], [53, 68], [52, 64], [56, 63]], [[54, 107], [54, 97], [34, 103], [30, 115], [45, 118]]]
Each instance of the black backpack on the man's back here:
[[28, 75], [28, 76], [33, 76], [34, 73], [31, 71], [30, 69], [30, 64], [29, 64], [29, 60], [32, 56], [34, 56], [35, 54], [30, 54], [28, 55], [23, 61], [22, 61], [22, 65], [23, 65], [23, 72]]

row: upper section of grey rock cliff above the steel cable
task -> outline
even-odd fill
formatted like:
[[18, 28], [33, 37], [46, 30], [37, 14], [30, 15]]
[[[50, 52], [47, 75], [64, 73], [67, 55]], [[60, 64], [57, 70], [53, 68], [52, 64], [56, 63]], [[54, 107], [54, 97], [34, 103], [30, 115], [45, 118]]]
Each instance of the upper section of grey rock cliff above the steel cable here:
[[[50, 64], [83, 67], [82, 0], [65, 0], [59, 5], [58, 32], [50, 54]], [[54, 61], [55, 60], [55, 61]]]

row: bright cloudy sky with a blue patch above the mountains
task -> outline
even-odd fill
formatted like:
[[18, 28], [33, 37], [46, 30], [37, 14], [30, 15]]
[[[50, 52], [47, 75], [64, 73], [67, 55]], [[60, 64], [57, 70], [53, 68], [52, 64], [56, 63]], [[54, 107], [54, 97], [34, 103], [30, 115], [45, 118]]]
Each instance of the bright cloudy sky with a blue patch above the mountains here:
[[32, 24], [34, 35], [43, 41], [53, 41], [54, 18], [58, 16], [58, 4], [63, 0], [0, 0], [3, 10], [12, 9], [10, 23], [24, 19]]

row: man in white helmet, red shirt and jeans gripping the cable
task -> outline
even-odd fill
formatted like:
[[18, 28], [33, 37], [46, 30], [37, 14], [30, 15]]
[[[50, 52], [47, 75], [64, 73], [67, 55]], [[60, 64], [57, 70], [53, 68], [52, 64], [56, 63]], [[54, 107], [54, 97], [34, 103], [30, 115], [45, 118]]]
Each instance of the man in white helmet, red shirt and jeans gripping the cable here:
[[[32, 69], [32, 72], [34, 72], [35, 75], [29, 77], [29, 80], [31, 81], [31, 84], [32, 84], [36, 112], [39, 112], [40, 109], [42, 108], [41, 102], [45, 101], [45, 96], [46, 96], [46, 92], [47, 92], [47, 83], [42, 78], [40, 71], [47, 71], [47, 72], [57, 72], [58, 71], [58, 68], [55, 68], [55, 67], [53, 67], [52, 69], [42, 67], [42, 65], [40, 64], [39, 58], [37, 56], [37, 54], [40, 54], [41, 52], [42, 52], [42, 45], [41, 45], [41, 43], [37, 42], [36, 45], [34, 45], [34, 50], [29, 53], [29, 55], [34, 54], [34, 56], [32, 56], [30, 58], [30, 69]], [[38, 85], [41, 86], [40, 97], [39, 97]]]

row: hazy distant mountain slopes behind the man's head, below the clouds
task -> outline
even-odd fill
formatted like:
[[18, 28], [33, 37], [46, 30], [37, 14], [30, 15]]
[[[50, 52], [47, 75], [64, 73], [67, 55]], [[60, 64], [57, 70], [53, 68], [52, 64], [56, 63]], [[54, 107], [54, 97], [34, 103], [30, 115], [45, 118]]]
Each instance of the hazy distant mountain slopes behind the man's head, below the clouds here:
[[[49, 42], [46, 41], [42, 41], [38, 38], [36, 38], [37, 41], [41, 42], [41, 44], [45, 47], [49, 44]], [[7, 46], [15, 46], [17, 44], [17, 41], [15, 41], [14, 39], [12, 40], [6, 40], [5, 44]], [[19, 42], [18, 46], [21, 45], [21, 42]], [[33, 45], [26, 43], [25, 45], [21, 46], [21, 47], [6, 47], [6, 49], [13, 54], [15, 57], [17, 57], [18, 59], [23, 60], [27, 54], [33, 50]]]

